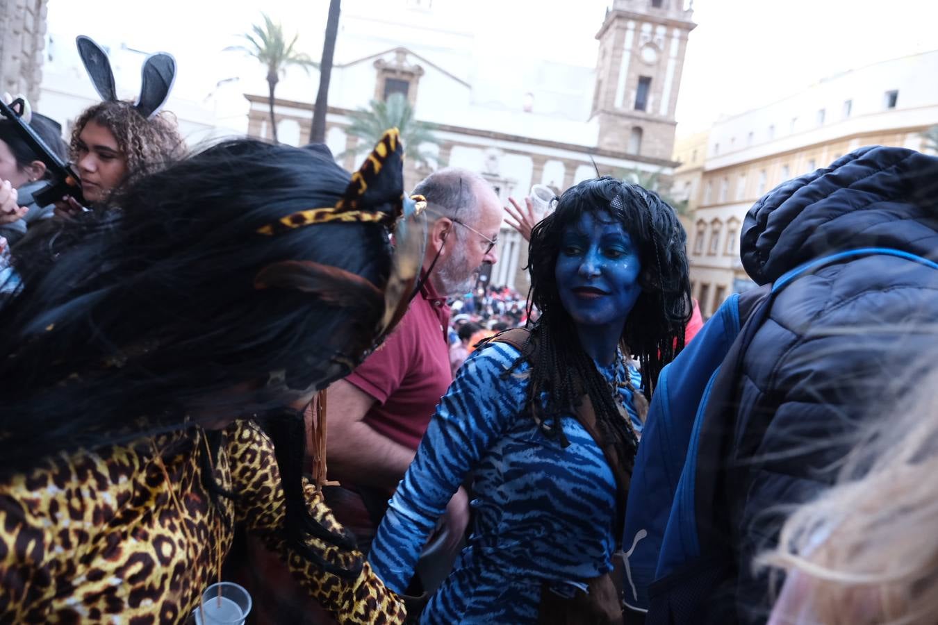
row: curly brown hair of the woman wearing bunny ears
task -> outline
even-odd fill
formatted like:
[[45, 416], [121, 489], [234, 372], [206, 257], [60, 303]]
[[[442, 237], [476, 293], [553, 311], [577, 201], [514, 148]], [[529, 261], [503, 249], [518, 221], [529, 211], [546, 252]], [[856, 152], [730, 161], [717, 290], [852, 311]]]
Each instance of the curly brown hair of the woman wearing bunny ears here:
[[161, 112], [147, 119], [132, 102], [109, 100], [85, 109], [75, 120], [69, 142], [73, 159], [78, 153], [79, 135], [89, 121], [110, 130], [127, 157], [128, 173], [122, 185], [141, 174], [159, 171], [186, 154], [186, 143], [172, 113]]

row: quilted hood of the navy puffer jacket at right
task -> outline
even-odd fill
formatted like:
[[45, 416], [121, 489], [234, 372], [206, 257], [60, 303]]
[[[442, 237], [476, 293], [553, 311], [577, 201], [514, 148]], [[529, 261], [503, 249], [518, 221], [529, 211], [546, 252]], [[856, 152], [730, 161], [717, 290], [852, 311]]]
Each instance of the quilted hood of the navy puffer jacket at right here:
[[876, 145], [786, 181], [749, 209], [740, 256], [762, 285], [860, 247], [938, 260], [938, 158]]

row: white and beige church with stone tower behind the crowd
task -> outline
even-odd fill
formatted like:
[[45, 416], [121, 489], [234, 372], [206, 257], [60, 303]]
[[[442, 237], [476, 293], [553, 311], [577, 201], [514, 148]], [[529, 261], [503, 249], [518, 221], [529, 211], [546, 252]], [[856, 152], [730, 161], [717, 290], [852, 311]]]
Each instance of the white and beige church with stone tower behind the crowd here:
[[[351, 114], [371, 99], [400, 93], [417, 119], [435, 126], [439, 144], [422, 150], [441, 165], [477, 171], [505, 203], [509, 197], [521, 199], [536, 184], [552, 186], [559, 194], [597, 171], [641, 171], [670, 180], [676, 165], [674, 104], [688, 32], [695, 25], [685, 2], [614, 0], [596, 35], [596, 67], [536, 57], [506, 63], [467, 53], [473, 49], [473, 35], [452, 30], [458, 22], [447, 18], [445, 6], [437, 14], [433, 5], [417, 11], [389, 0], [387, 15], [362, 20], [343, 16], [326, 144], [337, 156], [355, 148], [358, 140], [345, 132]], [[398, 47], [380, 47], [386, 45], [387, 33], [400, 34]], [[318, 76], [312, 72], [306, 80], [310, 86], [303, 92], [314, 94], [311, 85]], [[249, 134], [271, 137], [266, 97], [246, 97]], [[280, 141], [308, 140], [312, 108], [301, 97], [277, 100]], [[339, 157], [349, 170], [358, 159]], [[429, 172], [408, 164], [405, 187], [413, 188]], [[506, 225], [497, 253], [499, 262], [488, 268], [484, 281], [527, 292], [527, 243]]]

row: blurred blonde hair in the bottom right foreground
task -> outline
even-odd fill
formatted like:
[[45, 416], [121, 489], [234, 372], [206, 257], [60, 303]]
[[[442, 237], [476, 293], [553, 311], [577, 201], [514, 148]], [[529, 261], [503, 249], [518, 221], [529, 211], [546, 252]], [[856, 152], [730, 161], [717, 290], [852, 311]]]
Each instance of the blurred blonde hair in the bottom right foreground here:
[[[816, 622], [938, 622], [938, 369], [932, 369], [918, 369], [910, 401], [873, 415], [838, 484], [798, 508], [779, 546], [756, 560], [799, 578], [805, 592], [797, 607], [807, 607]], [[780, 622], [804, 621], [781, 615]]]

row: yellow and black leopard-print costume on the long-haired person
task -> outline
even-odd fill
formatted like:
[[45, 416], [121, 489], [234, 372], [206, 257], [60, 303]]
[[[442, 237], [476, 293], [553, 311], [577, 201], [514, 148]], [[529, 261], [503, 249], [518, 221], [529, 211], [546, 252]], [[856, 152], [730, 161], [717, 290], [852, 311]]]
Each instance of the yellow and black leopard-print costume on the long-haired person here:
[[[341, 623], [402, 623], [403, 604], [367, 562], [347, 580], [285, 548], [280, 474], [260, 428], [239, 421], [222, 436], [215, 478], [237, 498], [219, 497], [219, 505], [202, 484], [198, 428], [56, 454], [0, 483], [0, 623], [181, 623], [218, 581], [233, 518], [280, 553]], [[322, 495], [304, 486], [316, 520], [338, 531]], [[361, 558], [318, 539], [309, 544], [343, 568]]]

